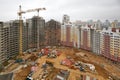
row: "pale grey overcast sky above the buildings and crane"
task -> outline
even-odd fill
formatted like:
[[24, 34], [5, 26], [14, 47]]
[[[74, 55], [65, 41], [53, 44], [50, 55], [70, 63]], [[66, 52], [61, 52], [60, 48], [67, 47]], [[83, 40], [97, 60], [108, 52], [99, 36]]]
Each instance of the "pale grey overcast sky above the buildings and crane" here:
[[[46, 20], [62, 21], [62, 16], [67, 14], [71, 21], [120, 21], [120, 0], [0, 0], [0, 21], [18, 19], [19, 5], [22, 5], [22, 10], [45, 7], [47, 10], [40, 11], [39, 15]], [[26, 13], [23, 18], [34, 15], [37, 12]]]

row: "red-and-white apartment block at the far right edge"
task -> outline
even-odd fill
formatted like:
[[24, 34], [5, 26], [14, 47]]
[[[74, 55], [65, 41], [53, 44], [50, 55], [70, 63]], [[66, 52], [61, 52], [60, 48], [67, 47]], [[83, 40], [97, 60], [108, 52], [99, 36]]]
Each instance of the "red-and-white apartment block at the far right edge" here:
[[[118, 30], [119, 33], [119, 30]], [[112, 29], [101, 32], [101, 54], [106, 58], [120, 62], [120, 35]]]

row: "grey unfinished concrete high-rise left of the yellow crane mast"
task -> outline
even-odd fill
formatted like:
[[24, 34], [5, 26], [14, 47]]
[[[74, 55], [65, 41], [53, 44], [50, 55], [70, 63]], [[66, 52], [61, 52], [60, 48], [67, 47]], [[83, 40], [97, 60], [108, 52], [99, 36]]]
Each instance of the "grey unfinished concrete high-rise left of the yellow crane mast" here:
[[4, 62], [19, 53], [19, 21], [0, 23], [0, 61]]

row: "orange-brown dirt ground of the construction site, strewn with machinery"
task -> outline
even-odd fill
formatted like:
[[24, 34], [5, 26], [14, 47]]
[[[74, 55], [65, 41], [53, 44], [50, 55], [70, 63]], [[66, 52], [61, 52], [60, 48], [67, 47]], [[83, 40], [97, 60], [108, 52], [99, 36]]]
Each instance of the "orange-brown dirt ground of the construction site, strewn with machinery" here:
[[49, 46], [11, 60], [1, 74], [13, 73], [14, 80], [120, 80], [119, 72], [115, 64], [91, 52]]

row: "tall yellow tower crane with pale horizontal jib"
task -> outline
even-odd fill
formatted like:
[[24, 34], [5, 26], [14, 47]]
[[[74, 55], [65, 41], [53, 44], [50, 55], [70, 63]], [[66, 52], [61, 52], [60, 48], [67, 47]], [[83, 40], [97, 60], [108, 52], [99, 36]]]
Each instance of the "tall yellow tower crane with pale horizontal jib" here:
[[20, 36], [19, 36], [19, 55], [22, 55], [22, 27], [23, 27], [23, 23], [22, 23], [22, 14], [25, 14], [25, 13], [28, 13], [28, 12], [34, 12], [34, 11], [37, 11], [38, 12], [38, 16], [39, 16], [39, 11], [40, 10], [46, 10], [45, 8], [36, 8], [36, 9], [29, 9], [29, 10], [26, 10], [26, 11], [22, 11], [21, 9], [21, 5], [19, 6], [19, 12], [18, 12], [18, 15], [19, 15], [19, 25], [20, 25]]

